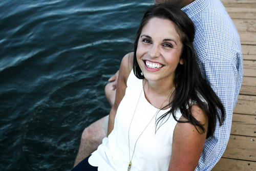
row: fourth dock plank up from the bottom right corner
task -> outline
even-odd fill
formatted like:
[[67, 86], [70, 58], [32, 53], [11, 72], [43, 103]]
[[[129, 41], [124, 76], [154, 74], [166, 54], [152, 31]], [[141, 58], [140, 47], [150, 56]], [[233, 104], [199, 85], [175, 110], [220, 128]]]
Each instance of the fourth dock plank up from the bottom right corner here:
[[239, 95], [234, 113], [256, 116], [256, 96]]

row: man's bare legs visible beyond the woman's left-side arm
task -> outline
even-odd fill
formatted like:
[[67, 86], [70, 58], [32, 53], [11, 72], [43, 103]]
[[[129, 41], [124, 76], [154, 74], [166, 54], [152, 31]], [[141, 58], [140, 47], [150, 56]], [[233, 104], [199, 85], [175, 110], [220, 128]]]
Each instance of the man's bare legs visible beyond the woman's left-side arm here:
[[[113, 83], [110, 82], [105, 86], [105, 95], [111, 106], [113, 106], [116, 96], [116, 89], [112, 89]], [[106, 123], [108, 123], [108, 117], [104, 117], [84, 129], [74, 166], [91, 155], [99, 144], [101, 144], [102, 139], [106, 137], [108, 131], [108, 124]]]

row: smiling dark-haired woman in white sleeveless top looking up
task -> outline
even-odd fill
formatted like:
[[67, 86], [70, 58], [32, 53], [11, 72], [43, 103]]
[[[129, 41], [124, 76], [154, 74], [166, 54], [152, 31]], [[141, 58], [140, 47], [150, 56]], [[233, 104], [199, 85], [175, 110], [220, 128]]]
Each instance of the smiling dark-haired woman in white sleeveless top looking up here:
[[225, 115], [200, 73], [194, 35], [180, 9], [146, 11], [135, 53], [121, 62], [109, 136], [73, 170], [195, 170], [216, 118], [222, 124]]

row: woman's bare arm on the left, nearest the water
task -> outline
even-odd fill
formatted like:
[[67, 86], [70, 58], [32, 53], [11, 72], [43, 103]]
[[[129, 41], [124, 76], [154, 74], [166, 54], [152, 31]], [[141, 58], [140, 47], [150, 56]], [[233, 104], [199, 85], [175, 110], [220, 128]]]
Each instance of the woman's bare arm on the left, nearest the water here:
[[108, 126], [108, 136], [114, 129], [114, 121], [116, 117], [116, 111], [119, 106], [119, 103], [123, 99], [126, 89], [126, 81], [129, 77], [130, 72], [132, 71], [133, 66], [133, 53], [126, 54], [121, 62], [119, 75], [117, 80], [117, 89], [116, 89], [116, 97], [115, 103], [110, 111], [109, 117], [109, 126]]

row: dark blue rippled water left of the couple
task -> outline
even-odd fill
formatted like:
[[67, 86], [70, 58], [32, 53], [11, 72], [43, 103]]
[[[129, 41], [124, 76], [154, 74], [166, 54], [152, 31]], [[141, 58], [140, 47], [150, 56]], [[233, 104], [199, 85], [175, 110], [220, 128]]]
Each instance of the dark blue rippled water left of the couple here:
[[[142, 3], [143, 2], [143, 3]], [[0, 1], [0, 170], [70, 170], [145, 1]]]

